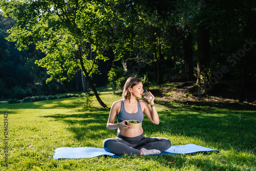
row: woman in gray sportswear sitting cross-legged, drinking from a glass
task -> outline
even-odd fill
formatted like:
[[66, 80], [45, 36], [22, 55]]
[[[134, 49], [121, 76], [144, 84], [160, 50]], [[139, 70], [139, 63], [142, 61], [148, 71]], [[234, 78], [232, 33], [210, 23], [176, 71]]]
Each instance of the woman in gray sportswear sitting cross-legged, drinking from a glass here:
[[[143, 85], [138, 78], [130, 77], [126, 80], [123, 87], [123, 99], [115, 101], [111, 107], [108, 123], [106, 127], [109, 130], [117, 130], [115, 139], [108, 138], [103, 141], [105, 151], [116, 155], [138, 155], [146, 156], [150, 154], [159, 154], [170, 147], [170, 141], [166, 138], [155, 137], [145, 138], [143, 136], [142, 120], [143, 113], [154, 124], [159, 124], [159, 117], [154, 104], [155, 97], [146, 98], [151, 104], [151, 108], [143, 100]], [[117, 117], [118, 123], [114, 123]], [[139, 120], [140, 127], [131, 129], [131, 126], [125, 124], [129, 120]]]

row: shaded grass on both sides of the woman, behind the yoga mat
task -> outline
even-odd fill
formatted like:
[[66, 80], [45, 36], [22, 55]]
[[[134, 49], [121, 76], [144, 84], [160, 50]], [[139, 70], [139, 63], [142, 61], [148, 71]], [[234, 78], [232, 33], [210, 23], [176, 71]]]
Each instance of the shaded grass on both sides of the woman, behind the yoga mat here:
[[[224, 106], [222, 109], [225, 109]], [[167, 135], [173, 145], [196, 143], [218, 150], [233, 148], [248, 151], [256, 146], [254, 111], [219, 110], [216, 105], [205, 104], [168, 106], [167, 110], [158, 113], [159, 125], [154, 125], [147, 118], [143, 120], [144, 134]], [[114, 132], [106, 129], [109, 109], [88, 108], [43, 117], [67, 123], [67, 129], [75, 134], [77, 140], [110, 138]]]

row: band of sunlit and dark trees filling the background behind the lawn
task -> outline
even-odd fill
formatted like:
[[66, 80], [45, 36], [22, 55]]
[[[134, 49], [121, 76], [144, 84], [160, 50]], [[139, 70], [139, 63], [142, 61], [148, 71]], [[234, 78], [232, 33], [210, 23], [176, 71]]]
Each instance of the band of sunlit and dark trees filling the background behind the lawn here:
[[[101, 77], [106, 80], [107, 73], [116, 67], [127, 75], [147, 75], [157, 84], [164, 81], [164, 74], [186, 73], [189, 79], [197, 79], [200, 95], [215, 90], [218, 82], [237, 80], [233, 86], [240, 88], [241, 102], [247, 87], [256, 82], [256, 14], [251, 0], [1, 1], [1, 7], [5, 15], [14, 18], [9, 18], [12, 25], [1, 18], [6, 26], [13, 26], [8, 40], [15, 41], [19, 49], [33, 49], [27, 60], [37, 60], [47, 68], [45, 79], [78, 84], [82, 69], [102, 106], [94, 83]], [[8, 36], [9, 28], [2, 38]], [[10, 59], [6, 47], [11, 44], [1, 41], [0, 60]], [[19, 63], [21, 68], [28, 67]], [[96, 75], [99, 71], [101, 76]], [[3, 88], [8, 77], [1, 76]], [[24, 82], [31, 82], [27, 79]]]

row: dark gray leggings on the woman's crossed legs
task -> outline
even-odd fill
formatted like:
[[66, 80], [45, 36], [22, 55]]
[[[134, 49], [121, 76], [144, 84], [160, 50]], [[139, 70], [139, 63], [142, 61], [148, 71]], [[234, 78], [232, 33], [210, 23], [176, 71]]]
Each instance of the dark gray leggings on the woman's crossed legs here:
[[103, 147], [106, 152], [116, 155], [127, 154], [140, 156], [141, 148], [158, 149], [160, 152], [163, 152], [170, 147], [170, 141], [162, 137], [146, 138], [143, 134], [133, 138], [117, 134], [115, 139], [105, 139], [103, 141]]

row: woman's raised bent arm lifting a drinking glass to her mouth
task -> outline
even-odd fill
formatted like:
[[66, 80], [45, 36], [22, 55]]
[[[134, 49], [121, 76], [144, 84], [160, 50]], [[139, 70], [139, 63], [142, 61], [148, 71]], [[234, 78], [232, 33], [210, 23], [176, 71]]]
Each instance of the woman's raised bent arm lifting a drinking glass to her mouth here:
[[[153, 97], [151, 100], [147, 100], [150, 105], [153, 105], [155, 104], [154, 103], [154, 99], [155, 97], [153, 96], [153, 94], [151, 92], [148, 92], [150, 93], [150, 95]], [[150, 109], [150, 107], [148, 106], [148, 104], [144, 101], [144, 100], [141, 100], [141, 103], [142, 103], [142, 106], [143, 106], [143, 113], [146, 115], [146, 117], [148, 119], [150, 119], [150, 121], [154, 124], [159, 124], [159, 116], [158, 116], [158, 113], [157, 113], [157, 110], [156, 110], [156, 106], [152, 106], [152, 108]]]

